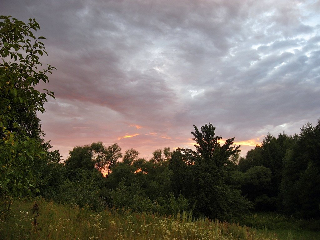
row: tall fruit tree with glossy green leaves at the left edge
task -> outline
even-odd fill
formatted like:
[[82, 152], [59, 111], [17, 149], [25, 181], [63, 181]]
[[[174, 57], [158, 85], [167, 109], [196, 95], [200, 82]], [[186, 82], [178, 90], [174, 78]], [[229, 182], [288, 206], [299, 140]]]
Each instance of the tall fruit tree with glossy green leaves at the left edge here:
[[0, 16], [0, 197], [4, 209], [12, 196], [30, 193], [33, 187], [29, 165], [43, 151], [24, 123], [36, 111], [44, 113], [47, 96], [54, 97], [53, 92], [34, 88], [40, 81], [48, 82], [54, 68], [38, 70], [40, 57], [47, 55], [40, 41], [45, 38], [33, 35], [40, 27], [35, 19], [29, 21]]

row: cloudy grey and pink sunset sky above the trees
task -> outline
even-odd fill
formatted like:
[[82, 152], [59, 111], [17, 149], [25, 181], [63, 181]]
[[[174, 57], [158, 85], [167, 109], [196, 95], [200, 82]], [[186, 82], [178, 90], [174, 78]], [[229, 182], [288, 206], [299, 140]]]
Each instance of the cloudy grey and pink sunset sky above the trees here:
[[150, 159], [208, 123], [245, 156], [320, 117], [320, 1], [1, 0], [0, 15], [47, 39], [56, 100], [38, 117], [64, 159], [97, 141]]

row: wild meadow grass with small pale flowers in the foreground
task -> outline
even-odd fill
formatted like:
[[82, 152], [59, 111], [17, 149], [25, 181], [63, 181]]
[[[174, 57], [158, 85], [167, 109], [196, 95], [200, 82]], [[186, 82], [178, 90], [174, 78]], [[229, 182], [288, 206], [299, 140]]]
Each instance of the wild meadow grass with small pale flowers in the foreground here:
[[[250, 219], [248, 219], [250, 220]], [[270, 220], [269, 220], [270, 221]], [[0, 222], [0, 239], [125, 239], [125, 240], [276, 240], [320, 239], [296, 238], [296, 232], [276, 232], [266, 228], [242, 227], [192, 219], [183, 212], [177, 216], [159, 216], [107, 209], [92, 212], [89, 208], [70, 207], [39, 200], [17, 201], [11, 215]], [[291, 234], [291, 235], [290, 235]], [[280, 236], [281, 235], [281, 236]], [[286, 236], [285, 236], [286, 235]], [[300, 236], [300, 235], [299, 235]]]

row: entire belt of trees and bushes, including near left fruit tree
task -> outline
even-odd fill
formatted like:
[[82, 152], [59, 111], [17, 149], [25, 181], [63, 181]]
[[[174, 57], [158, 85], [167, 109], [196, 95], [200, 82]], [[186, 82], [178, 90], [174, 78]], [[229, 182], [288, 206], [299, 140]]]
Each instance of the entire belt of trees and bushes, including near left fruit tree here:
[[[195, 150], [155, 149], [150, 159], [122, 152], [101, 141], [76, 146], [62, 161], [44, 140], [37, 111], [47, 97], [34, 86], [54, 70], [42, 71], [46, 54], [35, 20], [25, 24], [1, 16], [0, 22], [0, 207], [6, 216], [14, 199], [42, 196], [57, 203], [131, 209], [237, 222], [248, 212], [281, 212], [320, 217], [320, 118], [288, 136], [267, 134], [260, 145], [240, 157], [234, 138], [220, 143], [215, 127], [193, 126]], [[190, 129], [191, 130], [191, 129]]]

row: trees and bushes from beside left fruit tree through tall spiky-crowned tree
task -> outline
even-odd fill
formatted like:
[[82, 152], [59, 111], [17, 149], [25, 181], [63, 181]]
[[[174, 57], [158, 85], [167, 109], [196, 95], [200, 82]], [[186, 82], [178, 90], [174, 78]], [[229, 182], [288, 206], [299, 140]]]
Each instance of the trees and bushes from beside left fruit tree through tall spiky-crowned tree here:
[[194, 128], [196, 150], [157, 149], [150, 160], [139, 158], [134, 149], [123, 154], [117, 144], [102, 142], [76, 146], [64, 163], [52, 152], [47, 156], [54, 158], [34, 161], [33, 183], [44, 198], [80, 207], [161, 214], [187, 210], [234, 220], [253, 205], [241, 194], [240, 146], [233, 146], [233, 139], [220, 145], [212, 124]]

